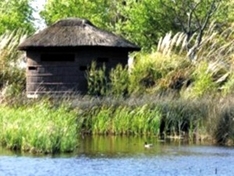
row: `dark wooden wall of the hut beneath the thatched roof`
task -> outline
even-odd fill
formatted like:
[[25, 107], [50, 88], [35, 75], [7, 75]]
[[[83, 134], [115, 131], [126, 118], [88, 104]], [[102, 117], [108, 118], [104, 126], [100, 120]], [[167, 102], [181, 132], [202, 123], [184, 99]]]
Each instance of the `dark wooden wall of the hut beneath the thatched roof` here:
[[[49, 59], [49, 61], [45, 61], [42, 56], [46, 54], [73, 54], [74, 60], [53, 61], [53, 59]], [[110, 69], [119, 63], [126, 65], [128, 53], [127, 51], [116, 52], [100, 49], [63, 51], [61, 53], [60, 51], [27, 51], [27, 95], [73, 92], [85, 94], [87, 92], [86, 68], [94, 60], [100, 62], [98, 64], [102, 64], [101, 62], [104, 61], [106, 67]]]

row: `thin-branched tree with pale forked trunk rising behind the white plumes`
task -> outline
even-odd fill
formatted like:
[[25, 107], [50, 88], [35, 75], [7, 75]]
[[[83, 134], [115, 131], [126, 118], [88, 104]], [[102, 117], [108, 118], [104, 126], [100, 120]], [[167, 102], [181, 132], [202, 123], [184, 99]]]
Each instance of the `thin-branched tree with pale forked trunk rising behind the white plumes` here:
[[[228, 19], [226, 3], [229, 0], [160, 0], [163, 8], [172, 12], [173, 18], [167, 16], [176, 29], [186, 34], [189, 58], [194, 59], [202, 37], [209, 24], [216, 20], [222, 22]], [[192, 36], [195, 37], [193, 45], [189, 45]]]

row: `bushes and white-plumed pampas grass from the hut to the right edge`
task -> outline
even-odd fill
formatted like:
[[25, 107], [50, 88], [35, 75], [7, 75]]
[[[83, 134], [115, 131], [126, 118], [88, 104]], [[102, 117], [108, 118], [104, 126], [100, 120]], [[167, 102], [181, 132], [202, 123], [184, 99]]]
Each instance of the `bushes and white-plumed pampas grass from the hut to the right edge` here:
[[[196, 38], [194, 35], [189, 43], [192, 48], [193, 39]], [[105, 90], [102, 95], [115, 92], [113, 96], [121, 92], [122, 95], [142, 95], [173, 91], [185, 97], [230, 93], [233, 79], [233, 29], [227, 28], [220, 33], [217, 32], [217, 25], [212, 23], [204, 32], [203, 41], [192, 61], [188, 59], [190, 50], [187, 51], [185, 42], [184, 33], [168, 33], [159, 40], [157, 48], [151, 53], [135, 53], [128, 72], [116, 68], [111, 74], [104, 74], [106, 70], [102, 74], [99, 74], [100, 70], [92, 74], [99, 78], [96, 79], [97, 85], [90, 85], [89, 88], [102, 88]], [[100, 85], [102, 79], [105, 83]]]

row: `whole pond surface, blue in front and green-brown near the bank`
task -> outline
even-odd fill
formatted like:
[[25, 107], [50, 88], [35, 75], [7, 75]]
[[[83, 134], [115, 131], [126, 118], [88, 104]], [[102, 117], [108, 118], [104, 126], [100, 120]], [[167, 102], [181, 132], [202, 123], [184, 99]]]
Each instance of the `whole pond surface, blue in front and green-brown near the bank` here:
[[[144, 148], [146, 140], [152, 148]], [[0, 176], [228, 176], [234, 174], [233, 166], [231, 147], [142, 137], [85, 137], [69, 155], [32, 156], [0, 149]]]

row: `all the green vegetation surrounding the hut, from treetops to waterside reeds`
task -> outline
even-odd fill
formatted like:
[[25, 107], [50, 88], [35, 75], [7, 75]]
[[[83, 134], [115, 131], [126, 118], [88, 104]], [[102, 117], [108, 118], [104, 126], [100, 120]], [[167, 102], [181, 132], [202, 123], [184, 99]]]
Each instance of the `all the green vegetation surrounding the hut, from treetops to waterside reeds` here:
[[[9, 18], [7, 2], [0, 3], [2, 20]], [[5, 27], [0, 28], [1, 145], [70, 152], [79, 146], [78, 136], [86, 134], [233, 145], [233, 1], [47, 1], [41, 12], [47, 24], [64, 17], [88, 18], [143, 49], [130, 54], [129, 67], [118, 65], [107, 75], [105, 65], [92, 63], [86, 96], [36, 100], [25, 98], [25, 69], [20, 66], [25, 56], [17, 50], [33, 31], [32, 8], [29, 1], [11, 2], [12, 13], [15, 5], [24, 4], [25, 19], [0, 25]], [[22, 20], [24, 30], [14, 30]]]

